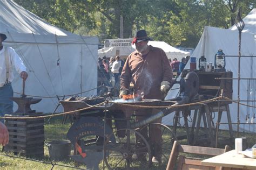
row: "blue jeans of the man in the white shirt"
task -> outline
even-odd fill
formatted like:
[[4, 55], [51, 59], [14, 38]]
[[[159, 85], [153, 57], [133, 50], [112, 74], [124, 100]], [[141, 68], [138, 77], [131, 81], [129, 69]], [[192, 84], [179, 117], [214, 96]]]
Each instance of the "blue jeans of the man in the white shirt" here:
[[[14, 90], [12, 90], [11, 83], [6, 84], [4, 87], [0, 87], [0, 116], [11, 115], [14, 107], [14, 102], [10, 97], [14, 96]], [[0, 119], [4, 123], [4, 119]]]

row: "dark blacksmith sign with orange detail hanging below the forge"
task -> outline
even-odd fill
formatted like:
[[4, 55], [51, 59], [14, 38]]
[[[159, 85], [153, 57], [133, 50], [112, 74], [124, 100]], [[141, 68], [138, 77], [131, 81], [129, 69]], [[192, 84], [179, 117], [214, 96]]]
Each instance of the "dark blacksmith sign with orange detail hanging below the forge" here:
[[[105, 125], [105, 137], [110, 136], [112, 143], [116, 142], [109, 125]], [[93, 141], [85, 139], [87, 136], [96, 138], [96, 144], [92, 146]], [[69, 129], [67, 134], [68, 139], [75, 146], [79, 155], [71, 155], [71, 158], [83, 162], [87, 168], [98, 169], [98, 164], [103, 156], [103, 137], [104, 137], [104, 122], [99, 117], [81, 117]], [[83, 140], [80, 140], [82, 139]], [[86, 143], [87, 144], [86, 146]]]

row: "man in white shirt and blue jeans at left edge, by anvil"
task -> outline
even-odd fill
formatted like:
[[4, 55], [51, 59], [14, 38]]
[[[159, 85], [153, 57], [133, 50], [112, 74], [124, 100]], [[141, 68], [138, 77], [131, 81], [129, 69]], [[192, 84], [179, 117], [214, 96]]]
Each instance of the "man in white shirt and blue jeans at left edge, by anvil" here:
[[[11, 82], [14, 80], [13, 68], [15, 67], [24, 81], [28, 77], [26, 67], [14, 48], [3, 46], [2, 42], [5, 39], [5, 34], [0, 33], [0, 116], [13, 112], [14, 104], [10, 100], [10, 97], [14, 95], [11, 86]], [[0, 119], [0, 121], [3, 122], [4, 119]]]

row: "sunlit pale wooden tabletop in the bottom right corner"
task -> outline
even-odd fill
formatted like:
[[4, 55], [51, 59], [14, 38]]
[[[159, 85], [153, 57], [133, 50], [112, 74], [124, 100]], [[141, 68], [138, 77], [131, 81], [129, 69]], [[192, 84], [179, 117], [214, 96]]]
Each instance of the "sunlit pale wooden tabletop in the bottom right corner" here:
[[223, 169], [256, 169], [256, 159], [237, 154], [235, 150], [203, 160], [201, 164], [225, 167]]

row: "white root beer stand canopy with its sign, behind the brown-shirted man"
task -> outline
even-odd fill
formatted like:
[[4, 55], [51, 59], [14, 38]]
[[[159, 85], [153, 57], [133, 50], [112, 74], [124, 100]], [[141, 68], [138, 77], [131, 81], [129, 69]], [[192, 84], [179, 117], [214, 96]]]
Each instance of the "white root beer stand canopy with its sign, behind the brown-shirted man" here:
[[[110, 57], [119, 55], [122, 58], [127, 57], [135, 49], [135, 45], [132, 45], [131, 41], [131, 38], [105, 40], [104, 48], [98, 50], [98, 56]], [[174, 48], [164, 41], [149, 41], [149, 45], [163, 49], [167, 55], [167, 58], [171, 60], [177, 58], [181, 61], [183, 57], [185, 57], [186, 55], [190, 55], [189, 52], [181, 51], [180, 49]]]

